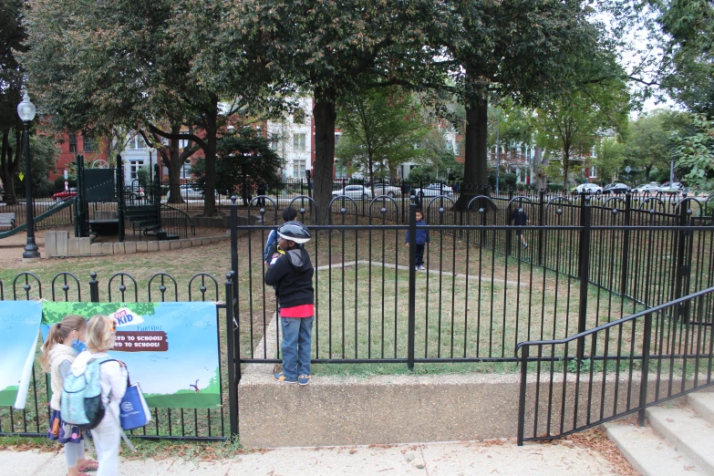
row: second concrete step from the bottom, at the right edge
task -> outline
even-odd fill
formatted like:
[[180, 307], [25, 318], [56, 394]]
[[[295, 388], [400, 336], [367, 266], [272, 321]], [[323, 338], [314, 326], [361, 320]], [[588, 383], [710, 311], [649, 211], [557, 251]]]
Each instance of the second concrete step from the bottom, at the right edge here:
[[714, 425], [692, 409], [652, 407], [649, 424], [707, 474], [714, 474]]

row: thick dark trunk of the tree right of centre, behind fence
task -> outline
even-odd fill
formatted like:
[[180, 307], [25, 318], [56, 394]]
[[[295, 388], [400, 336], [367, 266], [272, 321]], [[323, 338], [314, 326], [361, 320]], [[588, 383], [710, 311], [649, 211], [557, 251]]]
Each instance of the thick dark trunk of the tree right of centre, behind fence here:
[[466, 210], [476, 195], [486, 194], [488, 172], [488, 98], [484, 96], [466, 109], [466, 138], [464, 146], [463, 183], [457, 210]]

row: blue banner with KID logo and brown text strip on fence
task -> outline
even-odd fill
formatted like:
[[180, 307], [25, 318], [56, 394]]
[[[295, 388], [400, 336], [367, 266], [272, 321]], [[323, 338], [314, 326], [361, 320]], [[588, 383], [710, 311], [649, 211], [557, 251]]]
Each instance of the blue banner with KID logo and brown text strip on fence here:
[[43, 303], [42, 336], [74, 314], [117, 321], [111, 357], [124, 362], [147, 404], [161, 409], [221, 406], [216, 305], [196, 303]]

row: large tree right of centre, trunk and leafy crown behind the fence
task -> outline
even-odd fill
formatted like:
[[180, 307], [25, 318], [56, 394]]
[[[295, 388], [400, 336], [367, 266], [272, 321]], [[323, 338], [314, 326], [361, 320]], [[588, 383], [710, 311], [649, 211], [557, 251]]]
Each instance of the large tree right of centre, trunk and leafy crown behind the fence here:
[[[554, 90], [569, 88], [574, 56], [587, 56], [597, 44], [581, 2], [518, 0], [441, 2], [430, 22], [433, 45], [456, 79], [466, 109], [464, 184], [486, 191], [488, 185], [488, 103], [492, 92], [516, 103], [536, 106]], [[461, 193], [463, 208], [471, 193]]]

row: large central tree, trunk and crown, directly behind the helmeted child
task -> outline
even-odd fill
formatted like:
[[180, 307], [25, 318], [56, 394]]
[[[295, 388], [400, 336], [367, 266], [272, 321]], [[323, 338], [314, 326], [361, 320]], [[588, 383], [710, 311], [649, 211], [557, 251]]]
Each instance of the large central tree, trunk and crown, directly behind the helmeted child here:
[[[234, 3], [236, 36], [244, 31], [268, 47], [268, 67], [312, 93], [315, 120], [315, 197], [318, 222], [327, 222], [335, 157], [338, 98], [370, 83], [419, 69], [427, 55], [416, 18], [426, 0], [245, 0]], [[423, 7], [423, 8], [422, 8]], [[427, 13], [425, 13], [427, 12]], [[419, 69], [419, 78], [424, 73]], [[396, 82], [396, 81], [391, 81]]]

